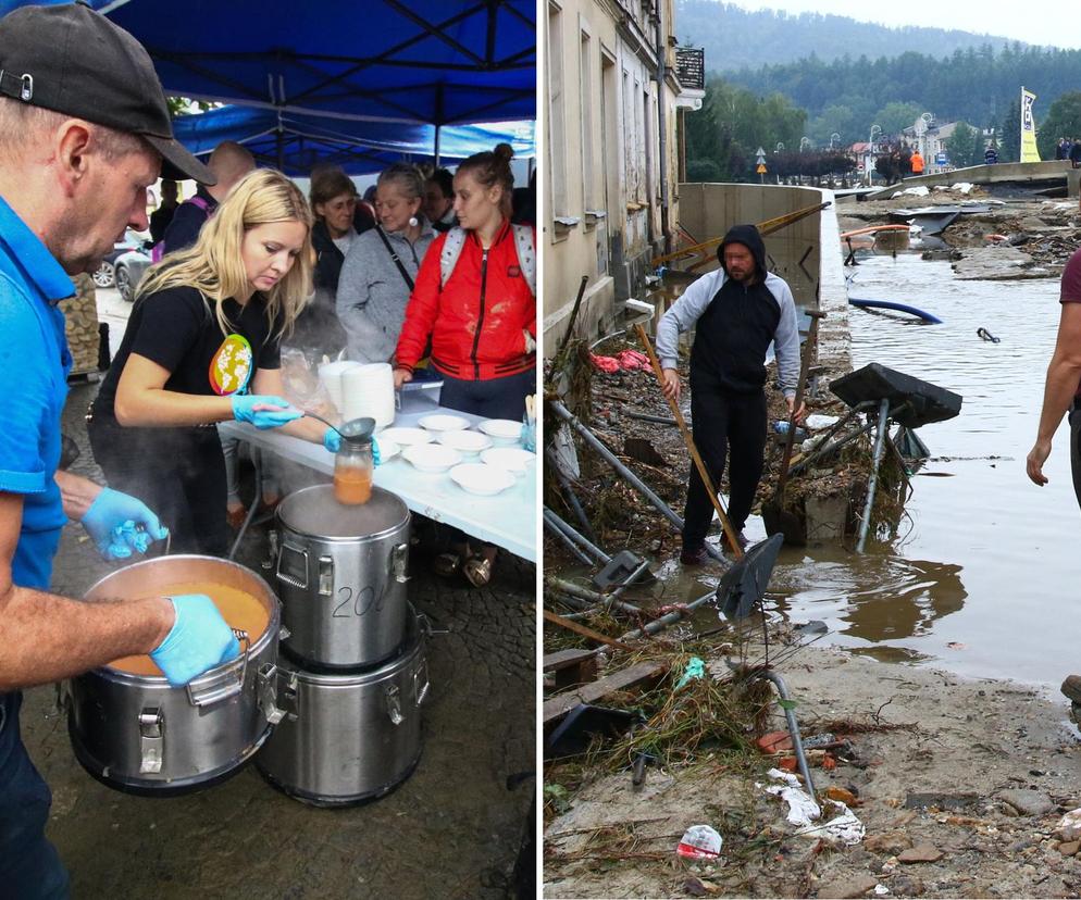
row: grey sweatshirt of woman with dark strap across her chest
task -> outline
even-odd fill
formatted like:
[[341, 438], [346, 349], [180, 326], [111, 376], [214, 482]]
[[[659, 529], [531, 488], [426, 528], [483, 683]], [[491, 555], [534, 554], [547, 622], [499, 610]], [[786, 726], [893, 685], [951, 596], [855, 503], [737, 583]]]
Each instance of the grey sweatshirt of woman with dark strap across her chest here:
[[[398, 232], [386, 232], [409, 276], [415, 282], [421, 261], [436, 234], [421, 220], [421, 235], [410, 243]], [[409, 285], [387, 252], [376, 229], [353, 238], [338, 278], [338, 321], [349, 337], [349, 359], [363, 363], [387, 362], [398, 346], [406, 321]]]

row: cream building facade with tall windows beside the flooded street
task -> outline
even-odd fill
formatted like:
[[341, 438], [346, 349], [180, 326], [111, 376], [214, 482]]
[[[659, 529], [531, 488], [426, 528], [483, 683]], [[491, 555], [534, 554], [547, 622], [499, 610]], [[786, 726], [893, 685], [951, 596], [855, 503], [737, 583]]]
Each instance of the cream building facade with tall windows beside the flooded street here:
[[[547, 0], [542, 190], [545, 352], [641, 296], [678, 221], [674, 0]], [[680, 99], [682, 97], [682, 100]], [[699, 92], [699, 103], [700, 96]]]

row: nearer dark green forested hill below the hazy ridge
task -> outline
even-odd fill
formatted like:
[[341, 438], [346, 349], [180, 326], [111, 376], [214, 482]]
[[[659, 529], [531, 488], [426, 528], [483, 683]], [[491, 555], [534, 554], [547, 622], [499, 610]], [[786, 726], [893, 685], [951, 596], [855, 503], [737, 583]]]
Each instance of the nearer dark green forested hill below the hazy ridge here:
[[[782, 93], [811, 117], [840, 117], [856, 125], [857, 134], [874, 122], [878, 111], [896, 101], [915, 104], [942, 122], [990, 125], [1003, 122], [1022, 85], [1037, 96], [1036, 118], [1046, 115], [1055, 99], [1081, 85], [1081, 50], [1021, 45], [995, 50], [985, 45], [956, 50], [943, 59], [915, 52], [832, 62], [809, 57], [729, 72], [724, 78], [759, 96]], [[842, 135], [848, 130], [841, 121], [832, 127]]]

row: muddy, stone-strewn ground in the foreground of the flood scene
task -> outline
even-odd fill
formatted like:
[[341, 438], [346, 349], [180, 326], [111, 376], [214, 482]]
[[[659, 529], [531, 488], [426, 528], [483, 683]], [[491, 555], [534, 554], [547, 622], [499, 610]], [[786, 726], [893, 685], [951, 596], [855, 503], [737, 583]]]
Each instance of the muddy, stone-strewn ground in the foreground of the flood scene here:
[[[796, 835], [765, 791], [771, 759], [704, 748], [695, 764], [648, 768], [641, 789], [630, 771], [587, 778], [546, 826], [545, 897], [1081, 896], [1078, 843], [1057, 832], [1081, 807], [1063, 698], [813, 647], [782, 672], [804, 739], [848, 742], [829, 771], [808, 751], [810, 771], [820, 798], [847, 795], [862, 840]], [[775, 704], [768, 727], [785, 727]], [[724, 840], [716, 862], [675, 855], [698, 824]]]

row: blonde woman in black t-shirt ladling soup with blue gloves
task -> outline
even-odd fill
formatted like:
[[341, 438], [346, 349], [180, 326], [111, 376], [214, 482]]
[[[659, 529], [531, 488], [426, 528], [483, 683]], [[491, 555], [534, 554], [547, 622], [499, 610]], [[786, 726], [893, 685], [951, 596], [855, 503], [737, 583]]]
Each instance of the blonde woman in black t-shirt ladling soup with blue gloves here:
[[139, 285], [124, 340], [88, 415], [109, 484], [137, 490], [173, 549], [228, 547], [225, 465], [214, 425], [281, 427], [334, 447], [326, 426], [282, 399], [278, 342], [311, 293], [308, 202], [279, 172], [237, 184], [194, 247]]

